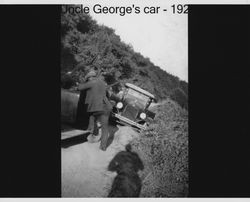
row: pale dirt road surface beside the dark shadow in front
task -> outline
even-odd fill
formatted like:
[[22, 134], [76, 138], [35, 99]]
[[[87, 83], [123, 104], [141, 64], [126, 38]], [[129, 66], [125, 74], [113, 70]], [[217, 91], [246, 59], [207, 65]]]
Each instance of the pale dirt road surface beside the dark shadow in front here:
[[100, 142], [62, 148], [62, 197], [106, 197], [116, 176], [107, 171], [109, 162], [137, 136], [130, 127], [121, 126], [105, 152], [99, 149]]

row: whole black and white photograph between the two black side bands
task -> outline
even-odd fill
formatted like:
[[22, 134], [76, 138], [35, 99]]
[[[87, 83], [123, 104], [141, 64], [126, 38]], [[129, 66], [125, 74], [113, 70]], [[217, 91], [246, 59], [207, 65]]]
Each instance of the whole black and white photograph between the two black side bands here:
[[62, 6], [62, 197], [188, 195], [187, 9]]

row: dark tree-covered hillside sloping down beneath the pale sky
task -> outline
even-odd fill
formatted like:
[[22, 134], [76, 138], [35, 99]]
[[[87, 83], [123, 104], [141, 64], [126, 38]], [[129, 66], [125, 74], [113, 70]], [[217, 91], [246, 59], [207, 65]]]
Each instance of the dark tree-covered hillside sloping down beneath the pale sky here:
[[[131, 82], [158, 100], [171, 98], [187, 109], [188, 84], [123, 43], [113, 29], [100, 26], [89, 15], [61, 15], [61, 83], [69, 88], [89, 69], [102, 72], [108, 84]], [[65, 76], [67, 71], [74, 73]]]

